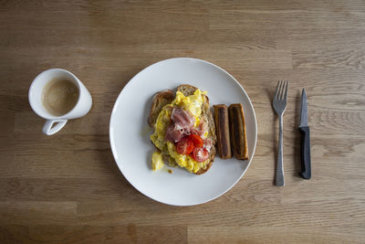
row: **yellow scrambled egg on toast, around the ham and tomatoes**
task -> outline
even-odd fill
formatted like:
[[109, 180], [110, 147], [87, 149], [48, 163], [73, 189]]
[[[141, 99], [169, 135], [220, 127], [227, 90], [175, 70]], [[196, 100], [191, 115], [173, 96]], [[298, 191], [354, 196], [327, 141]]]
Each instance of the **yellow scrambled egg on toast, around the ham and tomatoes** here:
[[156, 147], [162, 151], [162, 154], [170, 155], [179, 166], [186, 168], [188, 171], [193, 173], [196, 173], [201, 168], [206, 168], [206, 164], [209, 163], [209, 159], [202, 163], [196, 162], [190, 155], [177, 153], [175, 145], [171, 142], [166, 142], [164, 139], [166, 129], [170, 125], [170, 118], [172, 114], [172, 110], [169, 109], [169, 107], [181, 107], [185, 111], [190, 111], [195, 119], [193, 126], [197, 127], [202, 115], [202, 105], [205, 100], [205, 96], [203, 96], [204, 94], [206, 94], [205, 91], [203, 92], [202, 90], [197, 89], [194, 91], [193, 95], [185, 97], [182, 92], [176, 91], [176, 97], [172, 103], [165, 105], [160, 112], [156, 124], [154, 125], [154, 133], [151, 135], [152, 143], [154, 143]]

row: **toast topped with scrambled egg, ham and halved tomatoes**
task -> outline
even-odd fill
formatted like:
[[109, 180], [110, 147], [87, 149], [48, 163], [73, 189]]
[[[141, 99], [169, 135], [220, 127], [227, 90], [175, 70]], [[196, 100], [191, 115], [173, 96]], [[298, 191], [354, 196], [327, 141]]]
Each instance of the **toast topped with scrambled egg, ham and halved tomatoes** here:
[[181, 85], [175, 94], [172, 90], [158, 92], [148, 122], [153, 128], [151, 143], [157, 148], [151, 160], [153, 170], [162, 168], [162, 160], [195, 175], [212, 166], [216, 135], [205, 91]]

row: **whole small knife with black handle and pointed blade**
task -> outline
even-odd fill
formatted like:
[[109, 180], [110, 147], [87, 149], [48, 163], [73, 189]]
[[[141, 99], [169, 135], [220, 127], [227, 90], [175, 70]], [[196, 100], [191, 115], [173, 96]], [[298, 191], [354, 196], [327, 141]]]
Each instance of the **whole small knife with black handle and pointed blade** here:
[[302, 91], [302, 100], [300, 102], [300, 121], [299, 132], [302, 134], [301, 142], [301, 164], [302, 170], [299, 175], [305, 179], [310, 179], [310, 136], [308, 126], [308, 105], [307, 105], [307, 93], [306, 90]]

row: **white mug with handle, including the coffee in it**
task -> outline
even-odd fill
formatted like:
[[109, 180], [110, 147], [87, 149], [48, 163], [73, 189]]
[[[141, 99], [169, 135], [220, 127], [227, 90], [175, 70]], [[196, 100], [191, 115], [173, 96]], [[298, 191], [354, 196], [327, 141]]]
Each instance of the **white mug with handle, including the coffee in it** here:
[[59, 132], [68, 120], [87, 114], [92, 104], [89, 90], [65, 69], [48, 69], [37, 75], [28, 99], [33, 111], [47, 120], [43, 126], [47, 135]]

